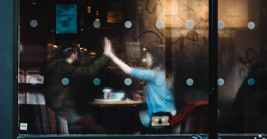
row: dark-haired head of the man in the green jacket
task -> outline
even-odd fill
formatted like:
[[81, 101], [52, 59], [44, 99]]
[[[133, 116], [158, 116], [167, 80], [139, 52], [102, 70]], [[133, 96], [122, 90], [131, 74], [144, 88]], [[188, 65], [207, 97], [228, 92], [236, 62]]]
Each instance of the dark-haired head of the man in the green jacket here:
[[61, 48], [61, 59], [73, 63], [78, 59], [77, 50], [74, 45], [65, 45]]

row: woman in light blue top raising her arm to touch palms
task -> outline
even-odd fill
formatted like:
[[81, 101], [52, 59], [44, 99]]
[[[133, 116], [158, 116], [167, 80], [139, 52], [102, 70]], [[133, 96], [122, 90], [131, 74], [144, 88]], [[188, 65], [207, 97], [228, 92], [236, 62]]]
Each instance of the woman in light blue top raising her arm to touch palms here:
[[[151, 70], [150, 68], [154, 64], [154, 61], [150, 53], [147, 53], [145, 61], [147, 62], [147, 70], [141, 70], [137, 68], [131, 68], [130, 66], [123, 63], [118, 59], [111, 49], [110, 41], [109, 45], [109, 56], [114, 63], [116, 63], [126, 74], [134, 76], [139, 79], [147, 81], [147, 111], [140, 114], [141, 121], [145, 127], [149, 127], [152, 112], [171, 112], [171, 115], [176, 114], [174, 96], [169, 91], [166, 84], [165, 75], [160, 71], [160, 68]], [[134, 99], [141, 99], [142, 97], [138, 94], [134, 95]], [[142, 116], [141, 116], [142, 115]], [[142, 120], [144, 119], [144, 120]]]

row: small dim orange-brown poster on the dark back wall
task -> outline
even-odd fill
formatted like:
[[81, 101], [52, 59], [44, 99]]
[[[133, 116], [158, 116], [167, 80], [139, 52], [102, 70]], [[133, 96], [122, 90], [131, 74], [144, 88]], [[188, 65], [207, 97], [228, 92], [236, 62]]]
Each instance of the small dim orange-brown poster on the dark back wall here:
[[107, 13], [107, 22], [108, 23], [117, 23], [122, 20], [122, 7], [121, 2], [109, 2], [108, 3], [108, 13]]

